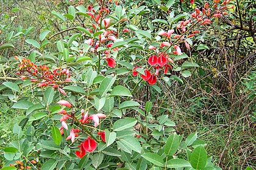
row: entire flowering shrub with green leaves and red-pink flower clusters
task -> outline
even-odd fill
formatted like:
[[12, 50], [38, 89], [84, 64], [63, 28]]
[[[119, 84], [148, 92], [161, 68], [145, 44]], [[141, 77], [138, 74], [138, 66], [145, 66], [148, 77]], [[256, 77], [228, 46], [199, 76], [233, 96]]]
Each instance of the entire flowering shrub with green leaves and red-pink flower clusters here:
[[[229, 1], [207, 2], [191, 15], [170, 13], [166, 20], [155, 20], [170, 29], [156, 32], [130, 24], [148, 12], [146, 6], [127, 11], [118, 1], [69, 3], [65, 14], [51, 14], [60, 24], [71, 22], [74, 27], [57, 33], [44, 30], [40, 41], [26, 39], [34, 53], [15, 56], [21, 88], [32, 96], [13, 104], [27, 118], [15, 126], [20, 141], [4, 149], [6, 165], [21, 168], [23, 161], [41, 169], [219, 169], [196, 132], [183, 140], [168, 115], [154, 117], [152, 103], [141, 106], [133, 94], [138, 86], [156, 85], [166, 75], [180, 83], [190, 77], [191, 67], [199, 67], [187, 55], [193, 38], [200, 35], [201, 27], [227, 15], [232, 8]], [[170, 4], [174, 1], [164, 5], [169, 9]], [[71, 30], [55, 41], [57, 52], [44, 49], [51, 38]], [[4, 86], [20, 91], [12, 82]], [[20, 133], [26, 124], [26, 134]]]

